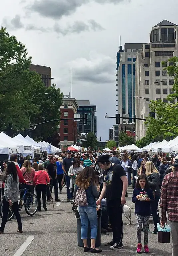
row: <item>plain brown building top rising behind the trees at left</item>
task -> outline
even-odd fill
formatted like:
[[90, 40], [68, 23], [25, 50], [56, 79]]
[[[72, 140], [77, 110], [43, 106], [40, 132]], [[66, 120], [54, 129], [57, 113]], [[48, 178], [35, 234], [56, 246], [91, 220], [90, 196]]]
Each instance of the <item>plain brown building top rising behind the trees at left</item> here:
[[51, 68], [50, 67], [31, 64], [30, 70], [36, 71], [37, 73], [39, 73], [41, 75], [41, 78], [46, 87], [51, 86], [51, 80], [49, 79], [49, 78], [51, 78]]

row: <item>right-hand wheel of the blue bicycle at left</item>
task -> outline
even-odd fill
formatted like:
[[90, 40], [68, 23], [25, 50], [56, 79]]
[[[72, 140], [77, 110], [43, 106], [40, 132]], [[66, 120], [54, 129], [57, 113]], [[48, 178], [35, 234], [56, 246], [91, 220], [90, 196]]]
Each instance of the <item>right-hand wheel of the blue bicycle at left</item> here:
[[35, 215], [35, 213], [38, 211], [37, 196], [33, 193], [30, 193], [27, 197], [26, 204], [24, 204], [24, 207], [28, 215]]

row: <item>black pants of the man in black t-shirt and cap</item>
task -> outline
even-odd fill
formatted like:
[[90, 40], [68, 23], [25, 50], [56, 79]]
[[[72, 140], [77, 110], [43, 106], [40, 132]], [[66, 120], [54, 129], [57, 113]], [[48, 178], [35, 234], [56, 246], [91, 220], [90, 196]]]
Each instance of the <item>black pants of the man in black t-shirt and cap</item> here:
[[123, 239], [123, 222], [122, 222], [123, 205], [120, 199], [107, 200], [107, 213], [111, 224], [113, 241], [122, 243]]

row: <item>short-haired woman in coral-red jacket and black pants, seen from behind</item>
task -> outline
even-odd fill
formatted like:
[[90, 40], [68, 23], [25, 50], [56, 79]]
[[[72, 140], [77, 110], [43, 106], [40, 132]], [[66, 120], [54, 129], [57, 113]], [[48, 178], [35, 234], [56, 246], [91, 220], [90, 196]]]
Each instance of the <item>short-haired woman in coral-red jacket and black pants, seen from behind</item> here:
[[38, 164], [39, 171], [35, 173], [34, 184], [36, 185], [36, 192], [38, 198], [38, 211], [41, 211], [41, 194], [43, 200], [43, 208], [47, 211], [46, 208], [46, 189], [48, 183], [50, 183], [50, 178], [48, 173], [44, 170], [44, 165], [42, 163]]

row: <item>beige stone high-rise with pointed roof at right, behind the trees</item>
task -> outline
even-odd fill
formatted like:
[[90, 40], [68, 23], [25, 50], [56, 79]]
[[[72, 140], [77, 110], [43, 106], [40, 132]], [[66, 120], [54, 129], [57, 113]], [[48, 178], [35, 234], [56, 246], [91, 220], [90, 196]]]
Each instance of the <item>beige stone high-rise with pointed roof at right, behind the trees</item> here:
[[[149, 100], [167, 102], [167, 95], [172, 92], [174, 80], [164, 70], [172, 63], [168, 61], [178, 56], [178, 26], [163, 20], [155, 25], [150, 33], [150, 42], [143, 44], [136, 59], [135, 114], [137, 118], [149, 116]], [[165, 61], [165, 65], [162, 65]], [[154, 82], [158, 82], [154, 84]], [[170, 103], [170, 102], [168, 102]], [[146, 135], [144, 121], [136, 120], [136, 139]]]

